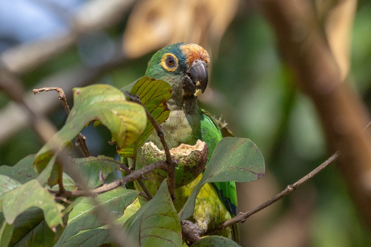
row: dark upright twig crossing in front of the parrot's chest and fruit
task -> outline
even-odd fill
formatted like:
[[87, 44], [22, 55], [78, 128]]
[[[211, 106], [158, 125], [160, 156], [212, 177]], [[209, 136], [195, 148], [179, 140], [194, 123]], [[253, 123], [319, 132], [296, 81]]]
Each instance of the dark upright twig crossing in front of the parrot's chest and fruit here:
[[164, 151], [165, 151], [165, 155], [166, 155], [166, 162], [169, 165], [169, 168], [167, 169], [167, 177], [168, 177], [167, 186], [169, 188], [169, 193], [170, 193], [171, 199], [174, 202], [175, 201], [174, 191], [175, 191], [175, 166], [176, 166], [176, 162], [171, 157], [170, 150], [169, 150], [169, 148], [167, 146], [167, 143], [165, 141], [164, 132], [162, 132], [161, 127], [158, 125], [158, 123], [154, 119], [154, 117], [152, 117], [151, 113], [145, 108], [145, 106], [143, 105], [143, 103], [141, 102], [141, 100], [139, 99], [139, 96], [137, 94], [132, 95], [128, 91], [125, 91], [125, 95], [127, 97], [129, 97], [130, 100], [132, 100], [135, 103], [138, 103], [138, 104], [140, 104], [141, 106], [144, 107], [148, 120], [150, 121], [150, 123], [155, 128], [158, 137], [160, 137], [160, 141], [161, 141], [162, 147], [164, 147]]

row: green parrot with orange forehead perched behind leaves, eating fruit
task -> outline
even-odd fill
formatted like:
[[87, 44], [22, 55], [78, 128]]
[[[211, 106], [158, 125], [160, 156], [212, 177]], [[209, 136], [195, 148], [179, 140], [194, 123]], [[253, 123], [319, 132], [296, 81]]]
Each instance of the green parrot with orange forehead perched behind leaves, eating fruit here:
[[[221, 138], [233, 135], [227, 130], [225, 124], [223, 125], [207, 111], [197, 106], [197, 96], [204, 93], [207, 86], [209, 63], [209, 54], [201, 46], [176, 43], [162, 48], [152, 56], [145, 76], [166, 81], [171, 86], [172, 97], [167, 102], [170, 115], [161, 124], [168, 147], [178, 147], [182, 143], [194, 145], [197, 140], [201, 140], [209, 147], [210, 159]], [[145, 142], [149, 141], [160, 149], [162, 148], [155, 131]], [[138, 163], [141, 162], [141, 158], [137, 161], [137, 167], [140, 168], [141, 164]], [[175, 189], [174, 206], [178, 212], [201, 176], [190, 184]], [[221, 223], [236, 214], [236, 184], [234, 182], [207, 183], [197, 196], [194, 213], [190, 220], [196, 223], [201, 232], [205, 234], [221, 235], [238, 242], [236, 225], [224, 230], [215, 230]]]

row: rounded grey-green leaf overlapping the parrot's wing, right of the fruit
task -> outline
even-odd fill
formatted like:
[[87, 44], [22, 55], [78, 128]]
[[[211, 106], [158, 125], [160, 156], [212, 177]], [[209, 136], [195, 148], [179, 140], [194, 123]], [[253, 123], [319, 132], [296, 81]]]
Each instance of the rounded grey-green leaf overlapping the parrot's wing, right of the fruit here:
[[179, 212], [181, 220], [189, 218], [194, 211], [198, 193], [206, 183], [250, 182], [264, 175], [264, 158], [256, 145], [245, 138], [225, 137], [216, 145], [204, 174]]

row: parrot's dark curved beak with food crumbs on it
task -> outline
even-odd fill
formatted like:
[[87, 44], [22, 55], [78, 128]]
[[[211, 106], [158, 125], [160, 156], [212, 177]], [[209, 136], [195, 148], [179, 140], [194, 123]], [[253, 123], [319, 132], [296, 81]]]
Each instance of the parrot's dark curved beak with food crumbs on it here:
[[194, 60], [187, 70], [187, 76], [183, 78], [183, 91], [186, 94], [198, 96], [204, 93], [209, 74], [207, 73], [206, 63], [201, 60]]

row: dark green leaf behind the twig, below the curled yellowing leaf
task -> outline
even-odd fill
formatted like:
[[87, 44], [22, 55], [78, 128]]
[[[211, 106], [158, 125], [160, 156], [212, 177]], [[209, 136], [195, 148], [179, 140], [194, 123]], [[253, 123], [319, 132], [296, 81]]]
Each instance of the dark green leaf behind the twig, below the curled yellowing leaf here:
[[100, 173], [106, 179], [109, 173], [120, 170], [117, 161], [106, 156], [76, 158], [73, 160], [72, 166], [76, 167], [80, 172], [80, 176], [85, 179], [81, 187], [89, 189], [102, 185], [102, 181], [99, 179]]

